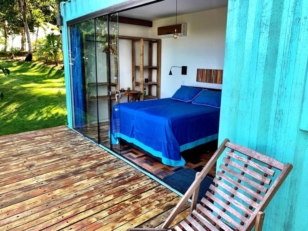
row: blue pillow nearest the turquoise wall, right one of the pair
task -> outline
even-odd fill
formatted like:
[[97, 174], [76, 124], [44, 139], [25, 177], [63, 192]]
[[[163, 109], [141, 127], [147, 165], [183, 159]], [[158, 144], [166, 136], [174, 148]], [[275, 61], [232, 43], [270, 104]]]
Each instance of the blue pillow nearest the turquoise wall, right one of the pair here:
[[211, 107], [220, 108], [221, 103], [221, 91], [202, 91], [197, 98], [193, 101], [193, 104], [201, 104]]

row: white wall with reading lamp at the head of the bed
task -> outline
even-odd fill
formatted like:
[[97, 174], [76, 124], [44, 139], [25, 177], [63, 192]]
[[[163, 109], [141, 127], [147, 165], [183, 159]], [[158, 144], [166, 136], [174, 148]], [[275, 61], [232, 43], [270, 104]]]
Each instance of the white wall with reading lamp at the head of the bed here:
[[[162, 39], [161, 98], [171, 97], [183, 83], [221, 89], [221, 84], [197, 82], [196, 76], [197, 68], [224, 67], [227, 7], [180, 15], [177, 21], [187, 23], [187, 36]], [[175, 17], [153, 21], [150, 37], [157, 37], [157, 27], [173, 24]], [[181, 75], [180, 68], [168, 75], [172, 66], [187, 66], [187, 75]]]

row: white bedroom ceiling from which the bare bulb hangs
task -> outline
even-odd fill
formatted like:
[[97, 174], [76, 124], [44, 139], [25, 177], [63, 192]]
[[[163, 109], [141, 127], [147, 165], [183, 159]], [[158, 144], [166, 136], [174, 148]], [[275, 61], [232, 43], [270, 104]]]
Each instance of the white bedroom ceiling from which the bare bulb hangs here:
[[[190, 14], [203, 10], [224, 7], [228, 0], [178, 0], [177, 14]], [[119, 16], [154, 21], [175, 16], [176, 0], [165, 0], [119, 13]]]

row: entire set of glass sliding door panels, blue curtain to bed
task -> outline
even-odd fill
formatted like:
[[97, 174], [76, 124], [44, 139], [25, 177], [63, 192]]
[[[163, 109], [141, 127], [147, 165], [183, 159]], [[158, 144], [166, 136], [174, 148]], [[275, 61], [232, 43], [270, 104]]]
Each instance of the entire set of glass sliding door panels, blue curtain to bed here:
[[69, 29], [73, 126], [120, 153], [118, 15], [104, 15]]

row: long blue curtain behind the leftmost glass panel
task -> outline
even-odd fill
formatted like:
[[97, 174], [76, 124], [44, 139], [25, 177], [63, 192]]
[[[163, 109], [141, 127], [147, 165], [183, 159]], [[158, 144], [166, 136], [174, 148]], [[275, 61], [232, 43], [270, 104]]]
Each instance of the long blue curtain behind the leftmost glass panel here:
[[82, 41], [80, 38], [80, 29], [78, 25], [71, 27], [71, 48], [72, 48], [72, 75], [73, 75], [73, 95], [74, 95], [74, 113], [75, 127], [85, 128], [85, 80], [82, 59]]

